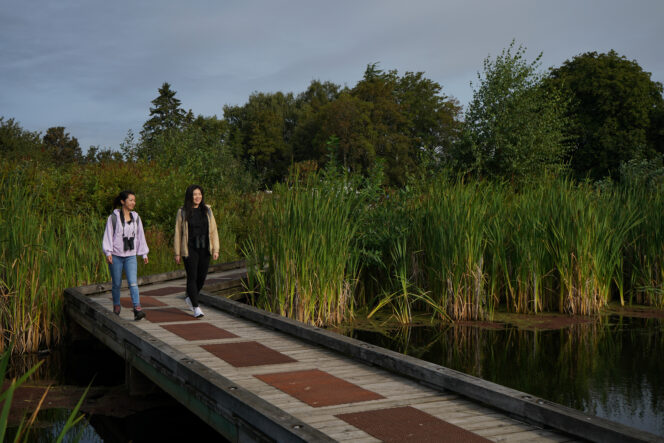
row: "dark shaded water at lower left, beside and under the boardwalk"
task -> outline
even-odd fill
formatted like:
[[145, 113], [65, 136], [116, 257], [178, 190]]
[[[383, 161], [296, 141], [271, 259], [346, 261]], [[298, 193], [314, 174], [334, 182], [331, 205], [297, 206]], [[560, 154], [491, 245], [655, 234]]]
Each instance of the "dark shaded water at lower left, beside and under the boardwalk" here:
[[[15, 358], [10, 376], [24, 373], [39, 360], [42, 366], [28, 384], [53, 384], [54, 396], [47, 397], [52, 404], [45, 403], [40, 410], [31, 428], [30, 442], [55, 441], [90, 383], [81, 408], [85, 419], [67, 433], [65, 442], [189, 441], [192, 438], [224, 441], [214, 429], [159, 389], [146, 396], [129, 396], [124, 387], [124, 361], [94, 339], [69, 344], [48, 355]], [[24, 401], [15, 397], [12, 406]], [[30, 413], [32, 410], [28, 411]], [[20, 416], [19, 413], [19, 419]], [[11, 423], [6, 441], [13, 441], [17, 431], [16, 420]]]

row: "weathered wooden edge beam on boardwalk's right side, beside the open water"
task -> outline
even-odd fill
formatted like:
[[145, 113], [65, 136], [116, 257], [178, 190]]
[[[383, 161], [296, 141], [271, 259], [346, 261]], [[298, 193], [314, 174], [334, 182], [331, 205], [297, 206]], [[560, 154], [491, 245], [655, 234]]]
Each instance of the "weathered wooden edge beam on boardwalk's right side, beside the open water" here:
[[451, 391], [528, 423], [596, 442], [664, 442], [662, 437], [434, 363], [263, 311], [205, 291], [199, 301], [236, 317], [353, 357], [436, 389]]

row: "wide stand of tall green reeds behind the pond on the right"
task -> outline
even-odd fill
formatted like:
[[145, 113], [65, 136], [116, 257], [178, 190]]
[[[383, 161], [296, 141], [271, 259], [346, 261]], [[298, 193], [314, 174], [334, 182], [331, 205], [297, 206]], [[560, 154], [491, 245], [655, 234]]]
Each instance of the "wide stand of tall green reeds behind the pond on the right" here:
[[[626, 289], [657, 293], [656, 271], [641, 288], [625, 279], [630, 251], [643, 249], [642, 236], [652, 245], [664, 227], [660, 216], [642, 227], [654, 206], [640, 197], [564, 179], [519, 192], [495, 183], [439, 184], [427, 192], [419, 231], [427, 289], [461, 320], [489, 318], [498, 305], [591, 315], [612, 299], [624, 303]], [[660, 269], [661, 246], [642, 256]]]

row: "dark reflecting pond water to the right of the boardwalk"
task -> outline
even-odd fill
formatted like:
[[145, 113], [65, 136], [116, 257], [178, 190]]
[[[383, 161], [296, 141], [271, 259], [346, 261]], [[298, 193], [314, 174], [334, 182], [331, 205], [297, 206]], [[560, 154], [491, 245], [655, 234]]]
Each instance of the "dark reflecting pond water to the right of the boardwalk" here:
[[546, 331], [465, 325], [347, 335], [664, 436], [664, 320], [612, 315]]

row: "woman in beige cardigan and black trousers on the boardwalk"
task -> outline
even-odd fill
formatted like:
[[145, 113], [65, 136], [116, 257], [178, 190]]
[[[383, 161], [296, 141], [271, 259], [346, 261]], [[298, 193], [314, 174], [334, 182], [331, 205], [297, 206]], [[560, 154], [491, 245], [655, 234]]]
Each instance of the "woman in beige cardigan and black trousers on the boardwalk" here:
[[210, 265], [219, 258], [219, 234], [212, 210], [203, 201], [203, 189], [191, 185], [184, 194], [184, 206], [175, 218], [175, 262], [184, 260], [187, 272], [187, 298], [184, 301], [194, 311], [194, 317], [203, 316], [198, 306], [198, 294], [203, 288]]

